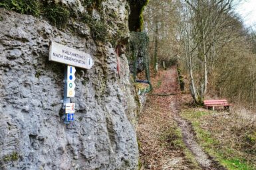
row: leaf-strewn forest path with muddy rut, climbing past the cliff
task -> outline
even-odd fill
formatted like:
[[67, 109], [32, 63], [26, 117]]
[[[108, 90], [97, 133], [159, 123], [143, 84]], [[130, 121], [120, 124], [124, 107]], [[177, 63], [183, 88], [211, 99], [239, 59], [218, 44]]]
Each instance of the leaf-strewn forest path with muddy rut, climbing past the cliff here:
[[184, 100], [177, 77], [171, 67], [152, 79], [153, 94], [177, 95], [148, 95], [138, 126], [142, 169], [225, 169], [197, 144], [192, 125], [180, 116]]

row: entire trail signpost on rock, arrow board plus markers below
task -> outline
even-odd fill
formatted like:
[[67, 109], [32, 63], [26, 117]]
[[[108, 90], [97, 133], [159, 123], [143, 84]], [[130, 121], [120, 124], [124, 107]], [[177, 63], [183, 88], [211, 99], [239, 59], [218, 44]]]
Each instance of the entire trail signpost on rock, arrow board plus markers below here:
[[76, 79], [74, 73], [76, 72], [75, 67], [84, 69], [92, 68], [94, 62], [90, 54], [78, 51], [74, 48], [69, 48], [58, 44], [57, 42], [51, 42], [49, 60], [53, 62], [59, 62], [67, 64], [64, 71], [64, 99], [63, 103], [64, 124], [69, 124], [74, 121], [74, 103], [70, 103], [70, 97], [74, 97], [75, 91], [74, 80]]

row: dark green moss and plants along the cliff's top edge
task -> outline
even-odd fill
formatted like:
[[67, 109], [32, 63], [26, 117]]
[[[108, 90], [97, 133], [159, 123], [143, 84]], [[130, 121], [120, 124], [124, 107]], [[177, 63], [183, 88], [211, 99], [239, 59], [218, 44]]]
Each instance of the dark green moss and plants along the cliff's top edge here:
[[[81, 14], [74, 9], [68, 8], [66, 5], [61, 3], [61, 1], [55, 0], [1, 0], [0, 7], [16, 11], [21, 14], [33, 15], [35, 17], [43, 16], [48, 19], [53, 26], [57, 26], [58, 28], [66, 26], [70, 18], [76, 19], [88, 24], [92, 32], [92, 36], [95, 39], [101, 40], [102, 42], [111, 40], [113, 42], [112, 44], [116, 44], [118, 38], [123, 36], [122, 31], [117, 31], [116, 35], [110, 38], [106, 22], [103, 19], [95, 21], [90, 16], [92, 9], [97, 9], [102, 15], [102, 1], [104, 0], [81, 1], [82, 5], [87, 8], [89, 15]], [[113, 18], [116, 18], [116, 16], [117, 13], [112, 13]], [[0, 21], [3, 21], [3, 18], [0, 17]]]

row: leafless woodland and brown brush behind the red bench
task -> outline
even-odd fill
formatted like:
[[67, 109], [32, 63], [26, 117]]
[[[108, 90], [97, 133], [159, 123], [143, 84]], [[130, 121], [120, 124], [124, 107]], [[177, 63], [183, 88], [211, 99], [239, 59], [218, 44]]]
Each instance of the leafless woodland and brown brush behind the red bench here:
[[156, 0], [145, 9], [150, 64], [157, 71], [163, 62], [178, 62], [195, 103], [223, 97], [255, 108], [255, 30], [243, 25], [237, 5], [225, 0]]

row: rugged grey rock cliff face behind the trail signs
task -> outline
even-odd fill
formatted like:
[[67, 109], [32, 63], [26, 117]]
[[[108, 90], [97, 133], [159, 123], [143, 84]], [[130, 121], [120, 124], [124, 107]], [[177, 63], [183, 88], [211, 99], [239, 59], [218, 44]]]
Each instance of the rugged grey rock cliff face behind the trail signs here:
[[[78, 0], [64, 3], [85, 10]], [[102, 2], [109, 36], [116, 30], [128, 36], [127, 6], [122, 0]], [[97, 18], [98, 11], [92, 15]], [[91, 31], [81, 22], [58, 29], [0, 9], [0, 169], [137, 169], [137, 108], [128, 62], [120, 55], [119, 78], [115, 47], [95, 40]], [[51, 40], [94, 60], [92, 69], [76, 69], [75, 120], [67, 125], [60, 103], [66, 65], [49, 62]]]

